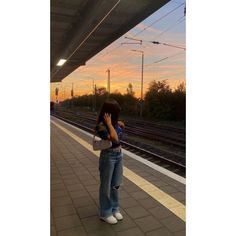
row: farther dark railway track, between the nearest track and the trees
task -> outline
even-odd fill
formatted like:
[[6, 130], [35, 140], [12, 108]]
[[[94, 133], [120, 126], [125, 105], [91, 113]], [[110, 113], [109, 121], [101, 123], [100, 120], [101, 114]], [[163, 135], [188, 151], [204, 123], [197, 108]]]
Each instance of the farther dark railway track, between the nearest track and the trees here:
[[[95, 123], [96, 117], [92, 114], [85, 114], [80, 112], [74, 113], [72, 111], [56, 111], [56, 114], [74, 121], [79, 120], [88, 124]], [[135, 120], [127, 120], [125, 122], [126, 133], [143, 137], [149, 140], [155, 140], [168, 145], [172, 145], [181, 149], [185, 149], [185, 130], [169, 126], [161, 126], [153, 122], [141, 122]]]

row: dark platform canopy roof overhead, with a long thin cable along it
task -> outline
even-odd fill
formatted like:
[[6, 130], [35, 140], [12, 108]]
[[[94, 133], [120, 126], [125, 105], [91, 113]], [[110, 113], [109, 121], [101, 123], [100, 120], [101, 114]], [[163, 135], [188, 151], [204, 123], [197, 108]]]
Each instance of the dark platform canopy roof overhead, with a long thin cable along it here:
[[[51, 0], [51, 82], [59, 82], [170, 0]], [[66, 62], [58, 66], [60, 59]]]

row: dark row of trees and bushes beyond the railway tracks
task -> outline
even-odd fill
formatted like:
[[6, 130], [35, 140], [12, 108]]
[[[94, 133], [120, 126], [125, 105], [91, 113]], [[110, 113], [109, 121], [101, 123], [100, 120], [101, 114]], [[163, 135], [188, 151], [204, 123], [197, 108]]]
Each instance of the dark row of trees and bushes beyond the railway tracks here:
[[143, 117], [155, 120], [185, 121], [186, 117], [186, 86], [180, 83], [173, 90], [166, 80], [153, 80], [147, 89], [144, 100], [135, 97], [132, 84], [129, 84], [125, 94], [116, 91], [108, 94], [106, 88], [95, 89], [95, 93], [82, 95], [64, 100], [61, 104], [66, 108], [83, 107], [92, 111], [99, 111], [103, 102], [114, 98], [120, 104], [121, 113], [129, 116], [139, 116], [141, 102], [143, 104]]

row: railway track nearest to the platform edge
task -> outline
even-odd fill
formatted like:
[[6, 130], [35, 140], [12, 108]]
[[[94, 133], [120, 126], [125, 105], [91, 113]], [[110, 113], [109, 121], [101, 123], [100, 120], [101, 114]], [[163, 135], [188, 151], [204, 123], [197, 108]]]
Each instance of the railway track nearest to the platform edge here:
[[[78, 127], [78, 128], [81, 128], [89, 133], [93, 133], [94, 130], [91, 128], [91, 127], [87, 127], [85, 125], [82, 125], [82, 124], [79, 124], [78, 122], [75, 122], [75, 121], [72, 121], [68, 118], [65, 118], [65, 117], [61, 117], [57, 114], [51, 114], [52, 116], [55, 116], [56, 118], [60, 119], [60, 120], [63, 120], [75, 127]], [[168, 169], [180, 176], [183, 176], [185, 177], [185, 163], [183, 162], [180, 162], [180, 161], [177, 161], [175, 160], [175, 158], [170, 157], [170, 156], [163, 156], [163, 155], [160, 155], [160, 154], [157, 154], [157, 153], [154, 153], [152, 151], [148, 151], [142, 147], [139, 147], [137, 145], [134, 145], [134, 144], [131, 144], [127, 141], [121, 141], [121, 144], [122, 144], [122, 148], [126, 149], [126, 150], [129, 150], [155, 164], [158, 164], [159, 166], [162, 166], [163, 168], [165, 169]], [[184, 161], [185, 162], [185, 161]]]

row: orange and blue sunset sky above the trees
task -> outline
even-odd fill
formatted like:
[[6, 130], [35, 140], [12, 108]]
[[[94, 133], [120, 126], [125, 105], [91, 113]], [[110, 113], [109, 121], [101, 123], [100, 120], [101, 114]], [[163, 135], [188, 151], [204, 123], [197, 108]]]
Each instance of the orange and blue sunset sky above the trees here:
[[[185, 81], [185, 50], [150, 42], [143, 42], [142, 45], [121, 45], [124, 42], [134, 42], [125, 37], [134, 37], [185, 48], [184, 3], [183, 0], [170, 1], [87, 61], [85, 66], [76, 69], [62, 82], [51, 83], [51, 100], [55, 101], [56, 87], [59, 88], [59, 101], [70, 98], [72, 83], [74, 96], [91, 94], [93, 80], [97, 87], [107, 87], [107, 69], [111, 71], [111, 92], [125, 93], [128, 84], [132, 83], [135, 96], [140, 97], [141, 53], [131, 50], [144, 51], [144, 93], [152, 80], [167, 80], [171, 88]], [[173, 12], [165, 16], [171, 11]], [[166, 57], [168, 58], [164, 59]], [[164, 60], [158, 62], [162, 59]]]

